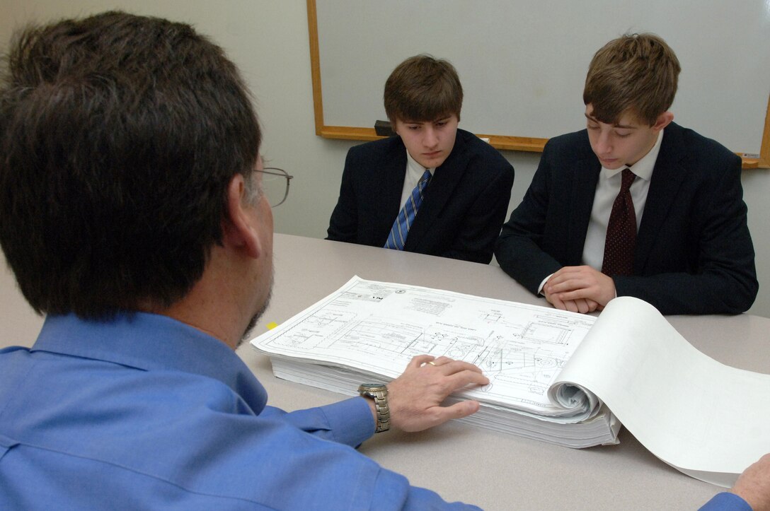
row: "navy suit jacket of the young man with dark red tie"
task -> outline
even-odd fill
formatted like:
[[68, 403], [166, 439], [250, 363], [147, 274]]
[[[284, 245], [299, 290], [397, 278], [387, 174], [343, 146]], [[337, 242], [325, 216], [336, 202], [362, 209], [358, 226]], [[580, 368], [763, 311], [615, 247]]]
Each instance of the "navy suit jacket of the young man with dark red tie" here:
[[[500, 267], [534, 294], [554, 271], [583, 264], [600, 171], [586, 130], [546, 144], [495, 250]], [[639, 225], [634, 274], [613, 278], [618, 296], [641, 298], [662, 314], [737, 314], [751, 307], [759, 286], [741, 159], [669, 124]]]

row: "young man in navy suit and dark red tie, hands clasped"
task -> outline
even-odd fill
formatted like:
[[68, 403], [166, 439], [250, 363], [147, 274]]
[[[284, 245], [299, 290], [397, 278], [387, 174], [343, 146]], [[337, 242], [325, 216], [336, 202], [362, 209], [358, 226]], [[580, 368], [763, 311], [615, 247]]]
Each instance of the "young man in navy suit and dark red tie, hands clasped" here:
[[[588, 69], [587, 129], [546, 144], [495, 255], [554, 307], [588, 313], [633, 296], [663, 314], [738, 314], [754, 302], [741, 159], [673, 122], [679, 71], [656, 35], [610, 41]], [[632, 239], [621, 243], [608, 226], [626, 168]], [[603, 273], [618, 246], [625, 269]]]

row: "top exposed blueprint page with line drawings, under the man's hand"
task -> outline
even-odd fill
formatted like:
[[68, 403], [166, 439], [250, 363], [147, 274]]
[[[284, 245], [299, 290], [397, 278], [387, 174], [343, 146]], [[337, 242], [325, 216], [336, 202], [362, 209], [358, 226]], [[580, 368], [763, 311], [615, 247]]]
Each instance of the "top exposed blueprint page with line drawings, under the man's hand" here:
[[[596, 318], [450, 291], [353, 277], [313, 307], [253, 341], [299, 357], [397, 377], [430, 354], [476, 364], [490, 379], [467, 397], [538, 415], [565, 414], [548, 387]], [[567, 412], [572, 413], [572, 412]]]

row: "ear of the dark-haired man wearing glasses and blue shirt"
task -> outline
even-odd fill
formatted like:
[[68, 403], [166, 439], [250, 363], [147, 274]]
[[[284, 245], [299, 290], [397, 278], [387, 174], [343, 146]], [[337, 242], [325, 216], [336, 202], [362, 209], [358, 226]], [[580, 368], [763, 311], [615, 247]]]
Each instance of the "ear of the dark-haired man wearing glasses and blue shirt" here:
[[257, 258], [262, 253], [253, 209], [255, 205], [246, 200], [246, 181], [243, 174], [235, 174], [227, 186], [227, 216], [222, 221], [223, 244], [225, 247], [245, 251], [249, 257]]

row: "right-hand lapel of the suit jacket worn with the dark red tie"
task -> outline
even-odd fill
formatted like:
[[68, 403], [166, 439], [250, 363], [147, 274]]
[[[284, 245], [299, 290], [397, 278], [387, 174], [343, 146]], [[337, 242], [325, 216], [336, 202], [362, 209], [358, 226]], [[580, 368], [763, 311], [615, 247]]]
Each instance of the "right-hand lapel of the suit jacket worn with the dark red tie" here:
[[671, 209], [679, 187], [685, 180], [686, 169], [679, 164], [683, 157], [681, 128], [669, 124], [663, 132], [661, 151], [655, 161], [644, 213], [639, 224], [634, 255], [634, 273], [642, 274], [655, 238]]

